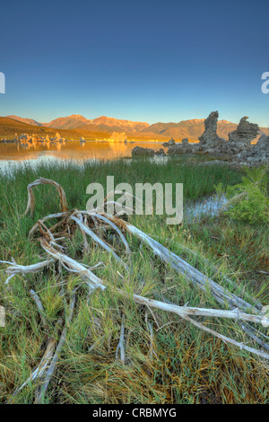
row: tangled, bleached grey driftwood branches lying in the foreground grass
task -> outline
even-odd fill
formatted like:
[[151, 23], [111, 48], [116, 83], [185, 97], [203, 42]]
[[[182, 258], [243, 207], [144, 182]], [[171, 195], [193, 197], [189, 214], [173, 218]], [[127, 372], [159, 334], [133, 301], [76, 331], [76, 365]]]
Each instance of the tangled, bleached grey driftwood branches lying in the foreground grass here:
[[[230, 286], [233, 286], [232, 282], [230, 282], [230, 279], [228, 279], [227, 277], [222, 277], [222, 280], [224, 279], [229, 288], [221, 286], [220, 284], [213, 281], [211, 278], [204, 276], [201, 271], [188, 264], [187, 261], [181, 259], [177, 254], [172, 251], [169, 251], [169, 249], [161, 245], [160, 242], [157, 242], [152, 239], [149, 234], [143, 233], [137, 227], [132, 224], [126, 223], [125, 220], [119, 218], [116, 215], [106, 214], [106, 212], [104, 211], [105, 207], [103, 207], [101, 211], [100, 208], [98, 210], [91, 210], [90, 212], [75, 209], [72, 211], [68, 211], [67, 202], [65, 198], [65, 191], [58, 183], [53, 180], [40, 178], [39, 180], [35, 180], [34, 182], [30, 183], [30, 185], [28, 186], [28, 205], [24, 215], [28, 214], [29, 211], [31, 215], [33, 213], [34, 197], [32, 193], [32, 188], [39, 184], [50, 184], [55, 186], [60, 195], [61, 212], [43, 217], [36, 224], [34, 224], [30, 230], [30, 239], [32, 239], [36, 233], [39, 233], [40, 246], [43, 251], [46, 252], [49, 258], [30, 266], [18, 265], [14, 261], [0, 261], [4, 264], [9, 265], [9, 267], [5, 270], [8, 275], [8, 278], [5, 282], [6, 284], [16, 274], [24, 275], [34, 273], [40, 271], [43, 268], [54, 266], [55, 262], [57, 261], [59, 265], [65, 268], [67, 271], [75, 273], [78, 275], [78, 277], [82, 278], [83, 282], [86, 283], [89, 288], [89, 295], [91, 295], [97, 288], [100, 288], [100, 290], [107, 289], [112, 294], [114, 292], [117, 292], [118, 295], [121, 295], [127, 300], [131, 300], [134, 301], [134, 303], [144, 305], [145, 308], [150, 310], [151, 312], [153, 309], [157, 309], [162, 312], [176, 314], [185, 321], [188, 321], [189, 323], [195, 325], [195, 327], [197, 327], [199, 330], [204, 330], [213, 335], [214, 337], [221, 338], [224, 343], [230, 343], [231, 345], [239, 347], [240, 349], [244, 349], [250, 353], [255, 354], [256, 356], [269, 359], [268, 338], [263, 333], [261, 333], [260, 330], [256, 330], [253, 325], [250, 325], [250, 323], [258, 324], [260, 327], [262, 322], [269, 323], [269, 319], [265, 319], [265, 316], [262, 314], [260, 310], [260, 303], [256, 303], [256, 301], [252, 300], [252, 298], [248, 297], [247, 299], [245, 299], [244, 297], [240, 297], [239, 295], [235, 295], [234, 293], [230, 292], [229, 288]], [[49, 221], [55, 218], [58, 220], [58, 222], [48, 227], [47, 224], [49, 224]], [[79, 229], [82, 233], [84, 251], [90, 251], [89, 242], [87, 238], [87, 236], [89, 236], [91, 238], [91, 241], [95, 242], [102, 249], [104, 249], [104, 251], [108, 252], [113, 257], [113, 259], [116, 259], [117, 263], [120, 266], [126, 268], [129, 271], [132, 271], [132, 267], [129, 268], [126, 265], [126, 262], [120, 257], [119, 252], [116, 252], [115, 248], [109, 245], [108, 242], [104, 238], [102, 238], [102, 233], [106, 233], [108, 228], [109, 230], [113, 230], [117, 234], [120, 244], [124, 246], [126, 256], [129, 257], [130, 261], [131, 251], [129, 244], [126, 241], [126, 236], [124, 235], [124, 233], [129, 233], [140, 239], [140, 241], [142, 241], [148, 248], [150, 248], [153, 255], [161, 259], [164, 264], [173, 268], [178, 274], [180, 274], [182, 277], [185, 277], [185, 279], [193, 283], [205, 294], [212, 295], [216, 302], [219, 303], [222, 308], [224, 307], [226, 309], [208, 309], [197, 308], [192, 306], [178, 306], [177, 304], [170, 303], [167, 300], [161, 302], [159, 300], [143, 297], [141, 295], [128, 294], [123, 289], [119, 289], [113, 285], [110, 285], [108, 281], [102, 280], [100, 277], [97, 277], [92, 272], [93, 269], [99, 268], [101, 263], [98, 263], [93, 268], [89, 268], [88, 266], [68, 256], [68, 252], [65, 251], [66, 248], [63, 243], [65, 244], [65, 239], [72, 237], [74, 235], [75, 230]], [[44, 329], [46, 328], [47, 330], [48, 326], [46, 322], [46, 315], [44, 314], [42, 304], [39, 301], [39, 296], [33, 291], [31, 291], [31, 295], [38, 306], [40, 318]], [[247, 300], [250, 300], [250, 302], [252, 303], [247, 302]], [[55, 374], [56, 364], [58, 362], [61, 349], [65, 344], [66, 330], [70, 321], [72, 320], [72, 315], [74, 313], [74, 306], [75, 293], [73, 292], [69, 305], [69, 311], [67, 312], [67, 315], [65, 317], [65, 328], [62, 331], [58, 344], [56, 345], [55, 338], [50, 338], [50, 340], [48, 341], [48, 347], [43, 358], [41, 359], [39, 366], [30, 375], [29, 379], [24, 382], [19, 389], [15, 391], [14, 394], [16, 394], [18, 391], [21, 391], [22, 388], [25, 387], [29, 382], [32, 382], [36, 379], [41, 379], [42, 383], [37, 391], [35, 402], [40, 403], [42, 401], [42, 398], [44, 397], [44, 394], [48, 389], [49, 382]], [[152, 315], [158, 325], [158, 322], [156, 321], [153, 313]], [[239, 341], [233, 338], [228, 338], [219, 332], [211, 330], [210, 328], [205, 326], [204, 323], [202, 323], [201, 321], [196, 321], [196, 317], [199, 317], [199, 319], [206, 317], [211, 319], [223, 318], [230, 319], [232, 321], [237, 321], [241, 330], [245, 331], [247, 335], [252, 338], [252, 341], [256, 342], [257, 345], [263, 347], [265, 351], [259, 348], [249, 347], [247, 346], [247, 344], [240, 343]], [[153, 345], [152, 323], [150, 321], [146, 321], [146, 323], [150, 331], [151, 342]], [[161, 330], [161, 328], [159, 328], [159, 330]], [[116, 351], [116, 358], [119, 356], [120, 360], [123, 363], [125, 363], [126, 359], [124, 338], [125, 323], [123, 318], [119, 342]], [[94, 347], [96, 347], [96, 345], [94, 345]], [[153, 346], [151, 347], [151, 350], [152, 354]]]

